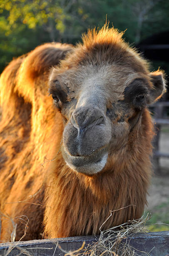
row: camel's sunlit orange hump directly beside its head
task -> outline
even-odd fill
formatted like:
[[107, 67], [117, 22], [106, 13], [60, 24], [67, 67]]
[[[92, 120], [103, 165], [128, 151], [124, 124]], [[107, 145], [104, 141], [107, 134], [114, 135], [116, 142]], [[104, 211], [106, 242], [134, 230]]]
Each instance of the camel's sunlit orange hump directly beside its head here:
[[[36, 90], [38, 77], [41, 77], [43, 85], [41, 93], [47, 94], [47, 80], [50, 67], [58, 65], [61, 59], [72, 50], [70, 44], [47, 43], [37, 46], [27, 54], [17, 73], [16, 89], [19, 94], [31, 101], [34, 89]], [[43, 77], [42, 77], [43, 76]]]

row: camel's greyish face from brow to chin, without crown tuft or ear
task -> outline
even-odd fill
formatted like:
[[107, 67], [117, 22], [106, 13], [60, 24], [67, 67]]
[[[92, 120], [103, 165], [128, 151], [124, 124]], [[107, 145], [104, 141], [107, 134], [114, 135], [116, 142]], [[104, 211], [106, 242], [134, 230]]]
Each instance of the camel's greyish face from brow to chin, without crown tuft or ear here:
[[109, 156], [126, 146], [150, 100], [152, 84], [142, 67], [142, 72], [134, 70], [133, 56], [127, 68], [115, 61], [87, 63], [61, 75], [54, 68], [50, 93], [65, 119], [62, 155], [67, 165], [94, 174], [104, 170]]

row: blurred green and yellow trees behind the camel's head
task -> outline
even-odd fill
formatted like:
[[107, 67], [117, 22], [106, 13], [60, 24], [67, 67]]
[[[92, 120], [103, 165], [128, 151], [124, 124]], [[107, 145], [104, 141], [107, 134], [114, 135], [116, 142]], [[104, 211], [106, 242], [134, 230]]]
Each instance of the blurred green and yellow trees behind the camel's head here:
[[[13, 57], [39, 44], [75, 44], [87, 28], [102, 27], [106, 17], [109, 26], [127, 29], [124, 37], [137, 46], [149, 36], [169, 31], [169, 1], [0, 0], [0, 72]], [[161, 63], [169, 72], [169, 63]]]

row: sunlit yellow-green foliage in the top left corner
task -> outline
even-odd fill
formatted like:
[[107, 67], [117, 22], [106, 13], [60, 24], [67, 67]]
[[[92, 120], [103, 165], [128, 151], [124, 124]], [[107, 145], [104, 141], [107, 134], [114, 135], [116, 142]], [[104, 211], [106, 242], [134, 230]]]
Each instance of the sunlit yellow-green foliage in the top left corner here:
[[[12, 29], [17, 28], [17, 22], [26, 24], [28, 28], [36, 28], [43, 24], [55, 21], [56, 27], [59, 21], [60, 30], [64, 31], [63, 20], [65, 18], [64, 10], [57, 1], [44, 0], [1, 0], [1, 13], [7, 18], [7, 33], [12, 33]], [[62, 24], [62, 26], [61, 26]]]

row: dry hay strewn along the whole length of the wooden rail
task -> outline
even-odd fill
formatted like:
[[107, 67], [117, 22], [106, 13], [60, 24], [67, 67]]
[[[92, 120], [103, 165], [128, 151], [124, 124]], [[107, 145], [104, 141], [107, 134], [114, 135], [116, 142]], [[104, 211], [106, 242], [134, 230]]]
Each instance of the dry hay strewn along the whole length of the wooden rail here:
[[[107, 218], [107, 220], [111, 218], [112, 212], [113, 211], [110, 211], [110, 215]], [[11, 241], [15, 241], [15, 230], [16, 230], [15, 225], [16, 224], [14, 224], [13, 220], [9, 216], [3, 215], [2, 217], [8, 218], [10, 221], [12, 221], [13, 231], [11, 234]], [[21, 221], [23, 220], [25, 222], [25, 233], [26, 233], [28, 220], [26, 222], [23, 219], [23, 217], [25, 216], [19, 216], [18, 218]], [[96, 237], [97, 242], [93, 242], [92, 244], [87, 246], [85, 246], [85, 242], [83, 242], [82, 246], [76, 251], [64, 251], [61, 248], [61, 246], [57, 243], [55, 245], [55, 251], [58, 247], [62, 252], [65, 253], [65, 256], [103, 256], [103, 255], [104, 256], [141, 256], [141, 255], [150, 256], [150, 252], [153, 250], [153, 248], [151, 251], [145, 252], [145, 251], [139, 251], [138, 249], [129, 245], [130, 240], [135, 234], [149, 231], [146, 228], [146, 223], [150, 219], [151, 219], [151, 214], [148, 212], [147, 215], [144, 213], [144, 215], [138, 220], [128, 220], [126, 223], [122, 225], [102, 231], [101, 228], [104, 225], [104, 223], [107, 221], [105, 220], [105, 222], [100, 227], [99, 238]], [[22, 238], [24, 236], [22, 236]], [[20, 239], [20, 241], [22, 240], [22, 238]], [[20, 250], [20, 253], [18, 254], [18, 256], [21, 255], [22, 253], [29, 256], [32, 255], [28, 251], [29, 249], [42, 249], [42, 248], [24, 249], [24, 248], [18, 247], [17, 243], [15, 245], [14, 243], [11, 243], [11, 246], [8, 248], [8, 250], [4, 253], [3, 256], [8, 256], [13, 248], [17, 248], [18, 250]], [[43, 249], [51, 250], [53, 248], [43, 248]], [[55, 251], [53, 253], [53, 256], [55, 256]]]

